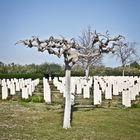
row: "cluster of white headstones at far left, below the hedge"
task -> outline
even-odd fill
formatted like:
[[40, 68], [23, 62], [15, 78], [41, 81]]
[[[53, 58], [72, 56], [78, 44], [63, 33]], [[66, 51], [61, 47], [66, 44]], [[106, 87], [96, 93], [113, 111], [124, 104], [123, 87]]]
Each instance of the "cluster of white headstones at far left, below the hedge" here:
[[39, 79], [2, 79], [2, 99], [7, 99], [8, 95], [15, 95], [16, 92], [22, 91], [22, 98], [28, 99], [35, 91], [35, 87], [39, 84]]

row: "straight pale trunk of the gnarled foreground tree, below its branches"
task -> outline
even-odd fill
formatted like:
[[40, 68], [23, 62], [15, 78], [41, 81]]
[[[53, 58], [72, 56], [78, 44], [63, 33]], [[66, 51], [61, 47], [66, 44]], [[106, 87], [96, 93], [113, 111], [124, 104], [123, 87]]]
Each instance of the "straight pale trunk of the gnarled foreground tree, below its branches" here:
[[71, 84], [71, 68], [66, 65], [65, 70], [65, 110], [64, 110], [64, 120], [63, 128], [67, 129], [71, 127], [71, 96], [70, 96], [70, 84]]

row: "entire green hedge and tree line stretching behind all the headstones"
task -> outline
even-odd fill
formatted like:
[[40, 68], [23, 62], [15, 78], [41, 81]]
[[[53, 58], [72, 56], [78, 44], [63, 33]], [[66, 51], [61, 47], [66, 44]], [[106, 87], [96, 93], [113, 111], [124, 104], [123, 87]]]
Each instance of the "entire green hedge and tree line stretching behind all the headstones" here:
[[[105, 66], [90, 66], [90, 76], [121, 76], [123, 67], [110, 68]], [[75, 65], [72, 76], [84, 76], [85, 70], [82, 65]], [[126, 76], [140, 76], [140, 65], [137, 61], [126, 66]], [[4, 64], [0, 62], [0, 78], [42, 78], [64, 76], [64, 67], [55, 63], [43, 64]]]

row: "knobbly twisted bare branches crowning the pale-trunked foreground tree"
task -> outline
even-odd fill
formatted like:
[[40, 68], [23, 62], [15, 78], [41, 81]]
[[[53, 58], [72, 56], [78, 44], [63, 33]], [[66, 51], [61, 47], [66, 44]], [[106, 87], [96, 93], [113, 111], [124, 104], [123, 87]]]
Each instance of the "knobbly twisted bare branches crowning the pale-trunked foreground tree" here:
[[[101, 53], [112, 52], [116, 45], [115, 42], [123, 38], [121, 35], [110, 38], [108, 31], [106, 32], [106, 35], [102, 35], [97, 33], [96, 30], [93, 33], [90, 32], [89, 37], [90, 38], [87, 38], [85, 45], [89, 40], [88, 47], [96, 47], [93, 51], [90, 49], [87, 50], [87, 53], [85, 54], [81, 53], [81, 50], [85, 48], [76, 43], [74, 38], [68, 41], [64, 38], [56, 39], [51, 36], [47, 40], [40, 40], [38, 37], [32, 36], [31, 39], [20, 40], [15, 44], [23, 44], [29, 48], [36, 47], [38, 48], [38, 51], [48, 51], [49, 54], [54, 54], [58, 57], [63, 55], [65, 63], [73, 66], [80, 58], [91, 59], [98, 57]], [[84, 42], [84, 40], [82, 41]], [[113, 42], [114, 44], [112, 43], [113, 45], [108, 47], [110, 42]]]

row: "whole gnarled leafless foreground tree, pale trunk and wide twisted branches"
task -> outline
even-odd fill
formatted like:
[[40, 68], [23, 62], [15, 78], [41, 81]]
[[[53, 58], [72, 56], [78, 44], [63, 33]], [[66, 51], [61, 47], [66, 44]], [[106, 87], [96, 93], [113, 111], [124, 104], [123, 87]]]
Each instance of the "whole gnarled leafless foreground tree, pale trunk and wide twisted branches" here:
[[[40, 40], [38, 37], [32, 37], [31, 39], [20, 40], [16, 44], [21, 43], [29, 48], [37, 47], [38, 51], [44, 52], [48, 51], [49, 54], [54, 54], [58, 57], [64, 57], [65, 63], [65, 110], [64, 110], [64, 120], [63, 128], [67, 129], [71, 127], [70, 116], [71, 116], [71, 98], [70, 98], [70, 84], [71, 84], [71, 68], [80, 58], [95, 58], [101, 53], [108, 53], [113, 51], [114, 45], [112, 44], [109, 47], [110, 42], [116, 42], [122, 39], [122, 36], [119, 35], [114, 38], [109, 36], [100, 35], [96, 32], [93, 33], [93, 39], [91, 40], [92, 45], [97, 45], [96, 49], [93, 51], [88, 51], [86, 54], [81, 53], [82, 47], [76, 43], [74, 39], [70, 41], [62, 39], [55, 39], [50, 37], [47, 40]], [[106, 38], [104, 42], [103, 39], [100, 39], [99, 36]]]

